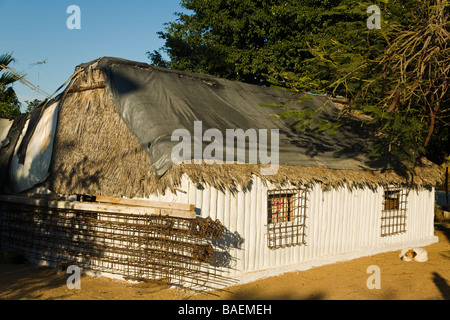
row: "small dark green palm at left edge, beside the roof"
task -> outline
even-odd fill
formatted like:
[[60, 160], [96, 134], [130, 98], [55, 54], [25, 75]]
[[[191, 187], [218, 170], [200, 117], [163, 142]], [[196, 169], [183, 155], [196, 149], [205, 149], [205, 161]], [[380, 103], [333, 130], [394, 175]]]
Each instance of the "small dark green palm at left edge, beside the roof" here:
[[18, 78], [7, 70], [13, 61], [11, 54], [0, 55], [0, 114], [7, 116], [20, 114], [20, 102], [11, 87]]

